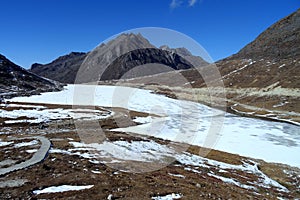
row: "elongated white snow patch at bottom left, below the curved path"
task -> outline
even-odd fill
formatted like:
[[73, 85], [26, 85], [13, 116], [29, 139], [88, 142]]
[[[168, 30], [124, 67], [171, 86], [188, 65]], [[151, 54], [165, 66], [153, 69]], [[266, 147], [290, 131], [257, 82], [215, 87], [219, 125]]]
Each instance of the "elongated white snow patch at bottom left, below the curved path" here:
[[33, 194], [45, 194], [45, 193], [58, 193], [58, 192], [67, 192], [67, 191], [78, 191], [78, 190], [86, 190], [94, 187], [94, 185], [86, 185], [86, 186], [72, 186], [72, 185], [61, 185], [61, 186], [52, 186], [47, 187], [42, 190], [34, 190]]

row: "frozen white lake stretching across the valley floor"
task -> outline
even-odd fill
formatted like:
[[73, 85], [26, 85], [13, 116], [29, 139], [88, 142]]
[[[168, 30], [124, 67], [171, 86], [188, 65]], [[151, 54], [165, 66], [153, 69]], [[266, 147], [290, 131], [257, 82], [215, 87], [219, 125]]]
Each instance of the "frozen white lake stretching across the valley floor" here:
[[60, 92], [17, 97], [10, 101], [123, 107], [152, 113], [160, 117], [137, 119], [143, 124], [118, 130], [211, 147], [300, 168], [299, 126], [222, 113], [199, 103], [170, 99], [148, 90], [68, 85]]

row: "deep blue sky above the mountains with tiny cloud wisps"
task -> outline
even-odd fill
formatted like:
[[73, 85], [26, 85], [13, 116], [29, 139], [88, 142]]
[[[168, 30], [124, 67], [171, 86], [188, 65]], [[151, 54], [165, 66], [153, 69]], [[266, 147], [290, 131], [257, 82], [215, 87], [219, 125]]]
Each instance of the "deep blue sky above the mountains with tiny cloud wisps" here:
[[140, 27], [173, 29], [213, 60], [236, 53], [299, 0], [2, 0], [0, 54], [29, 68]]

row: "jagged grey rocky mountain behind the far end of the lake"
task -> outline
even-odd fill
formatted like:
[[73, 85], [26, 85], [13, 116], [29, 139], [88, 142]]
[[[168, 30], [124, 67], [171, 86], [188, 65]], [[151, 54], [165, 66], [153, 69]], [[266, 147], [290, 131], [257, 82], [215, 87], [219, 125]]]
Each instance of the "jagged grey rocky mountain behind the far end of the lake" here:
[[[174, 56], [174, 54], [177, 54], [177, 56]], [[125, 60], [122, 61], [121, 58], [119, 58], [121, 55], [122, 59], [131, 63], [125, 63]], [[133, 69], [132, 64], [135, 61], [130, 61], [129, 55], [131, 58], [143, 58], [143, 60], [136, 62], [136, 64], [143, 64], [143, 66]], [[170, 60], [172, 57], [178, 59], [178, 55], [181, 57], [179, 59], [180, 61], [185, 60], [183, 61], [185, 64], [181, 62], [175, 66], [175, 60]], [[158, 59], [159, 56], [161, 58]], [[163, 56], [167, 57], [163, 58]], [[168, 60], [167, 63], [164, 62], [166, 60]], [[156, 48], [141, 34], [129, 33], [121, 34], [107, 43], [102, 43], [89, 53], [73, 52], [61, 56], [46, 65], [33, 64], [30, 71], [62, 83], [74, 83], [75, 79], [76, 83], [84, 83], [98, 80], [118, 79], [120, 77], [133, 78], [172, 70], [163, 65], [170, 65], [176, 70], [187, 69], [190, 68], [186, 66], [187, 63], [189, 63], [189, 66], [191, 66], [191, 64], [194, 66], [207, 65], [207, 62], [202, 58], [193, 56], [185, 48], [171, 49], [166, 45]], [[134, 65], [134, 67], [136, 67], [136, 65]], [[125, 68], [126, 70], [124, 71]], [[114, 75], [113, 73], [116, 71], [118, 71], [118, 73]], [[104, 72], [105, 76], [103, 76]], [[109, 72], [111, 73], [109, 74]]]

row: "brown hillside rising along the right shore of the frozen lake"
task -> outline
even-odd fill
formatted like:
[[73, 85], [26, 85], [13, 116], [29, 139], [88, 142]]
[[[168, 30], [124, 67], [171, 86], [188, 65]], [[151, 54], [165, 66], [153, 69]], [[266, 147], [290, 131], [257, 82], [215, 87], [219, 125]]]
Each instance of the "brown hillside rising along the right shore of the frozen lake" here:
[[[211, 65], [136, 78], [126, 84], [146, 85], [168, 96], [195, 100], [189, 95], [190, 88], [185, 89], [191, 86], [199, 93], [196, 100], [209, 105], [213, 104], [212, 96], [219, 98], [225, 91], [228, 111], [300, 124], [299, 24], [300, 9], [267, 28], [238, 53], [216, 62], [224, 90], [215, 88], [208, 93], [201, 74], [213, 82]], [[178, 77], [185, 77], [185, 82]], [[176, 87], [177, 93], [169, 94], [170, 87]]]

